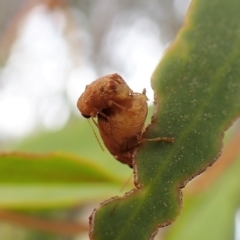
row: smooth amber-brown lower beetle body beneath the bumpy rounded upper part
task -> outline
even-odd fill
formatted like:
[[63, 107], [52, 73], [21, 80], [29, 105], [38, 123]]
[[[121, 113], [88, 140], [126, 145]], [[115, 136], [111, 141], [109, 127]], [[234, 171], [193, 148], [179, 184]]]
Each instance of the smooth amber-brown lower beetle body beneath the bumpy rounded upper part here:
[[133, 93], [124, 105], [114, 105], [98, 113], [98, 129], [109, 152], [132, 167], [132, 153], [142, 139], [147, 117], [147, 97]]

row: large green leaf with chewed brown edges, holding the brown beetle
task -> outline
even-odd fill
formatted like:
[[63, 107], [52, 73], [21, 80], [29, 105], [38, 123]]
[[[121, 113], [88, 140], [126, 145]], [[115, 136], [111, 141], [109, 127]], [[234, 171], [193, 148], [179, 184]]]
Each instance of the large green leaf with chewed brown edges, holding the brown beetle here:
[[[219, 156], [224, 131], [240, 115], [240, 1], [195, 0], [153, 74], [161, 104], [142, 144], [136, 186], [92, 215], [92, 239], [154, 236], [181, 208], [180, 188]], [[224, 194], [224, 193], [223, 193]]]

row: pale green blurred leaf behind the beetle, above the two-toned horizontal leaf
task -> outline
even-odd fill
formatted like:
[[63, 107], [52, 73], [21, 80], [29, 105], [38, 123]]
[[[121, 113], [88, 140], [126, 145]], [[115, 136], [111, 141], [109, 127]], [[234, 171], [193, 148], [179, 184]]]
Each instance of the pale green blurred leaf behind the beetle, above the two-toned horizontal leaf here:
[[[79, 113], [80, 114], [80, 113]], [[96, 129], [98, 134], [98, 129]], [[99, 134], [98, 134], [99, 135]], [[99, 137], [101, 141], [101, 138]], [[90, 159], [93, 164], [104, 166], [111, 175], [126, 181], [132, 174], [132, 169], [114, 159], [105, 149], [102, 151], [88, 121], [72, 118], [61, 130], [55, 132], [42, 132], [26, 138], [17, 146], [5, 150], [44, 153], [49, 151], [68, 152], [81, 158]]]

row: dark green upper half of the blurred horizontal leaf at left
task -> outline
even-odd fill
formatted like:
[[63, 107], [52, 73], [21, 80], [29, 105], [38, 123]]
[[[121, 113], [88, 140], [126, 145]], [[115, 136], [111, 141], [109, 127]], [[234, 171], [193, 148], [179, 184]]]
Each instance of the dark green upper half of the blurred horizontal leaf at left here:
[[113, 174], [85, 159], [61, 153], [0, 153], [1, 184], [119, 183]]

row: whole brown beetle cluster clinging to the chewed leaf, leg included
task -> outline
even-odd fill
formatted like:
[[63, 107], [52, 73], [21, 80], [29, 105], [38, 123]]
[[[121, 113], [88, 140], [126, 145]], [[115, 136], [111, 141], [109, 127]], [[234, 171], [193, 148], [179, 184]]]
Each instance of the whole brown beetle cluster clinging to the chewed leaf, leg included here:
[[174, 140], [142, 139], [148, 112], [145, 90], [134, 93], [118, 74], [107, 75], [88, 85], [77, 106], [84, 117], [97, 117], [96, 125], [106, 148], [130, 167], [133, 152], [140, 142]]

